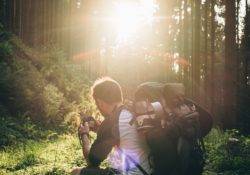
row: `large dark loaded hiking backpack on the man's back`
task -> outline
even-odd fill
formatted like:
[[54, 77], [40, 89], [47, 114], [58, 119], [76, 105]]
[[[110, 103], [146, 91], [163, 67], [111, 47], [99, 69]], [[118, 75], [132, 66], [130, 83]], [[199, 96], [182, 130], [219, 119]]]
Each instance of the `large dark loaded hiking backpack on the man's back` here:
[[141, 84], [133, 102], [134, 119], [150, 149], [155, 175], [198, 175], [205, 163], [202, 138], [212, 128], [211, 115], [185, 97], [180, 83]]

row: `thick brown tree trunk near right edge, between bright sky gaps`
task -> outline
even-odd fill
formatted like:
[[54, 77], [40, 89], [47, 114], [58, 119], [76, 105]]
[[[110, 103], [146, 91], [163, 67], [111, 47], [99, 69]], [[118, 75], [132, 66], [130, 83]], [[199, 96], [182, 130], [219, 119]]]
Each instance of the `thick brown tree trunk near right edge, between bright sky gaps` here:
[[235, 0], [225, 1], [225, 79], [224, 79], [224, 100], [225, 116], [223, 123], [225, 128], [235, 125], [236, 112], [236, 7]]

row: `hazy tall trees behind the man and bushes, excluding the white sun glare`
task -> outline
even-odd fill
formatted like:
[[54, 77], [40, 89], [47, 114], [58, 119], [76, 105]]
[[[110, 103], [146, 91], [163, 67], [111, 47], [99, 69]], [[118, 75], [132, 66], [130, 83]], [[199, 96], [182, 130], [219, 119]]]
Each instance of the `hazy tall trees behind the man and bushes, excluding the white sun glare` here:
[[[247, 0], [159, 0], [155, 16], [161, 18], [143, 29], [147, 36], [137, 33], [135, 43], [115, 49], [115, 36], [105, 28], [109, 23], [100, 20], [111, 3], [2, 0], [0, 19], [2, 28], [27, 46], [62, 50], [71, 62], [64, 66], [81, 69], [79, 75], [89, 80], [110, 75], [128, 97], [144, 81], [183, 82], [188, 96], [206, 106], [223, 127], [250, 128]], [[1, 93], [1, 99], [5, 96]], [[7, 101], [1, 100], [3, 105]]]

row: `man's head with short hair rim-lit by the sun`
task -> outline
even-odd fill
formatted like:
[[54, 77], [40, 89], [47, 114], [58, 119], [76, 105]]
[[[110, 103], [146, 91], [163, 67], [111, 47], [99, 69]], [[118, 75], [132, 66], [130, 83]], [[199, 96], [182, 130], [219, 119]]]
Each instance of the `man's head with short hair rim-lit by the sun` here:
[[104, 116], [110, 115], [113, 108], [123, 101], [121, 86], [110, 77], [97, 79], [91, 92], [97, 108]]

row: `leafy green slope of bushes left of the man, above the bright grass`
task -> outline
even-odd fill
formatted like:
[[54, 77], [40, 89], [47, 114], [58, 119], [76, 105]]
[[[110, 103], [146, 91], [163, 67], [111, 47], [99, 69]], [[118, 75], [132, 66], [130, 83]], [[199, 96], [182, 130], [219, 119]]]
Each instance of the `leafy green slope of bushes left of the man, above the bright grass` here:
[[0, 25], [0, 58], [0, 148], [75, 131], [80, 112], [99, 115], [85, 72], [55, 45], [29, 48]]

